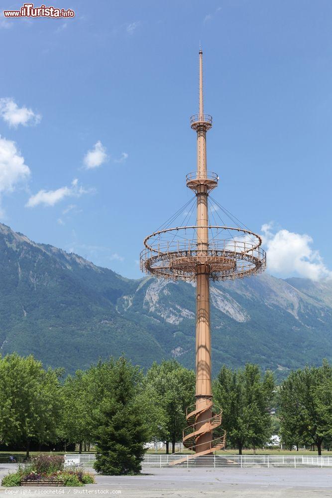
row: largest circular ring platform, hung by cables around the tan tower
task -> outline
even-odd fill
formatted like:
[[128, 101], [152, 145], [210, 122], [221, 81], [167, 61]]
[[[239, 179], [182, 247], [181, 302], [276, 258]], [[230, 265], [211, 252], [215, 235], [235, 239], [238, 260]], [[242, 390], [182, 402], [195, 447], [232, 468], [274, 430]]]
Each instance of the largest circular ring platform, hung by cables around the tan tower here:
[[265, 269], [261, 242], [259, 235], [240, 228], [165, 229], [145, 238], [140, 267], [146, 273], [175, 280], [194, 280], [198, 271], [209, 273], [212, 280], [242, 278]]

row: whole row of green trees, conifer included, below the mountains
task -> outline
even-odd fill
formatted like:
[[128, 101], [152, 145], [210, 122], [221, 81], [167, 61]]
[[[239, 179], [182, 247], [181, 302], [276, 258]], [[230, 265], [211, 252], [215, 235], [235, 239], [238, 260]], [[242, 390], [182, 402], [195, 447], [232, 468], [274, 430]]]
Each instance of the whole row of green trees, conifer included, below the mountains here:
[[[288, 446], [332, 441], [332, 367], [291, 372], [279, 387], [257, 365], [222, 367], [213, 381], [214, 402], [223, 410], [227, 445], [258, 448], [279, 430]], [[100, 361], [64, 376], [44, 370], [32, 356], [0, 358], [0, 443], [62, 442], [97, 445], [105, 473], [137, 471], [145, 444], [163, 441], [175, 451], [186, 427], [186, 407], [195, 403], [195, 373], [175, 360], [143, 373], [124, 357]], [[277, 407], [277, 419], [270, 415]], [[277, 424], [276, 424], [277, 420]], [[218, 436], [218, 429], [215, 431]]]

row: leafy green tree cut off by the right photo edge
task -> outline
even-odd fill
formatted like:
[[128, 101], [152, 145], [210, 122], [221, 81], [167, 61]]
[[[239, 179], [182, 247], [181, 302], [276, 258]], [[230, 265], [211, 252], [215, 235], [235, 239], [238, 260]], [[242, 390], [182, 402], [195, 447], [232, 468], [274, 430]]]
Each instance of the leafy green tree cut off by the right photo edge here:
[[288, 444], [299, 441], [330, 445], [332, 438], [332, 367], [305, 367], [291, 372], [280, 388], [280, 434]]

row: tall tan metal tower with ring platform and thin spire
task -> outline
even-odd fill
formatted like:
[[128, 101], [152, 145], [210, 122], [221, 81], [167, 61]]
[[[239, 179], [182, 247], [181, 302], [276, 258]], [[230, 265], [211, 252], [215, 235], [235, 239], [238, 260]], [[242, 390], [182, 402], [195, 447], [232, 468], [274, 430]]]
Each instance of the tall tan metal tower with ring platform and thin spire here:
[[[204, 114], [202, 49], [199, 52], [199, 113], [190, 118], [190, 124], [197, 133], [197, 170], [187, 175], [186, 183], [195, 197], [158, 231], [145, 238], [140, 264], [143, 271], [157, 277], [196, 281], [196, 404], [187, 409], [189, 425], [183, 434], [184, 445], [195, 451], [192, 455], [195, 457], [225, 446], [225, 431], [221, 437], [213, 438], [213, 430], [221, 425], [222, 410], [215, 407], [212, 400], [210, 280], [242, 278], [261, 272], [266, 266], [259, 235], [248, 230], [216, 200], [209, 214], [209, 195], [217, 187], [219, 177], [207, 170], [206, 135], [212, 127], [212, 117]], [[190, 218], [188, 210], [194, 203], [196, 224], [186, 225]], [[219, 209], [235, 227], [227, 226], [219, 215], [222, 223], [216, 222]], [[185, 215], [183, 224], [172, 227], [182, 213]]]

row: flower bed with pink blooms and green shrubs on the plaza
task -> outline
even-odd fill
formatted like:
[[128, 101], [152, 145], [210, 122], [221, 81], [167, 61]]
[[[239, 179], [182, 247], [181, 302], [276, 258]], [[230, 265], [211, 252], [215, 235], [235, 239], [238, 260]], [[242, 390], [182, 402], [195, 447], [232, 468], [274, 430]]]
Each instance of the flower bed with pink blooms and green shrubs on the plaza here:
[[17, 472], [8, 474], [1, 486], [84, 486], [93, 484], [95, 478], [82, 469], [65, 468], [60, 455], [38, 455], [19, 465]]

